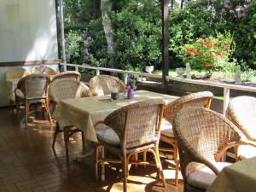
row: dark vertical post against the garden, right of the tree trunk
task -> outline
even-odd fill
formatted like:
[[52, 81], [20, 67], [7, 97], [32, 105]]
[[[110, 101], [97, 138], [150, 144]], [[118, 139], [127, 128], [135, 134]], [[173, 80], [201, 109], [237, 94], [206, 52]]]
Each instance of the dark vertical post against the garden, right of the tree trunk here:
[[162, 82], [164, 86], [167, 86], [166, 76], [169, 75], [169, 50], [168, 50], [168, 40], [169, 40], [169, 33], [168, 33], [168, 15], [169, 15], [169, 8], [168, 3], [169, 0], [162, 0], [161, 1], [162, 7]]

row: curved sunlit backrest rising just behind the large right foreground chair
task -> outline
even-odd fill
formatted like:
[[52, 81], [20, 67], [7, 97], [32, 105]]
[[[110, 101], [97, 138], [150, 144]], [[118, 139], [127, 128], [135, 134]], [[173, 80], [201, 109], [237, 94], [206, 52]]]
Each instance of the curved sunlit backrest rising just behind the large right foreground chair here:
[[182, 96], [166, 105], [164, 118], [173, 124], [174, 118], [176, 117], [178, 111], [182, 108], [188, 108], [191, 106], [210, 108], [212, 97], [213, 94], [209, 91], [201, 91], [191, 93], [187, 96]]

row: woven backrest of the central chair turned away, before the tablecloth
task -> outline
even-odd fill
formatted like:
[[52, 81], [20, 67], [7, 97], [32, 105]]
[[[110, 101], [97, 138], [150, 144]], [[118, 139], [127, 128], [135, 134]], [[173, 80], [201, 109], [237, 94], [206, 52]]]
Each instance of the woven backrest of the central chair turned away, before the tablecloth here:
[[119, 136], [123, 150], [154, 143], [160, 137], [164, 101], [136, 102], [110, 113], [104, 123]]

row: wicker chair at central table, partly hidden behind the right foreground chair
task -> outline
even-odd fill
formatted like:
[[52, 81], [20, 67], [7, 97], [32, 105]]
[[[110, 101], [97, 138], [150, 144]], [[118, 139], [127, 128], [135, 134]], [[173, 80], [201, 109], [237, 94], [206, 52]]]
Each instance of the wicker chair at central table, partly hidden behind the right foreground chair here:
[[166, 105], [164, 110], [164, 119], [161, 125], [160, 141], [168, 143], [172, 148], [160, 148], [161, 151], [169, 151], [173, 153], [173, 160], [175, 162], [175, 185], [178, 183], [178, 153], [177, 153], [177, 139], [173, 136], [172, 125], [177, 112], [182, 108], [189, 106], [210, 108], [212, 102], [212, 93], [208, 91], [192, 93], [188, 96], [183, 96], [177, 100]]

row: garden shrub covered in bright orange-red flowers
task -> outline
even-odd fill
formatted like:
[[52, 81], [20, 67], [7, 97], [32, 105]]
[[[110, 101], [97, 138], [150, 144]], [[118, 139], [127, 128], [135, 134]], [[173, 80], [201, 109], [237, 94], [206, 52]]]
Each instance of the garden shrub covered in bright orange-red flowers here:
[[230, 32], [217, 33], [217, 38], [198, 38], [195, 43], [184, 44], [179, 56], [184, 63], [189, 62], [191, 68], [220, 70], [224, 61], [229, 61], [233, 49]]

